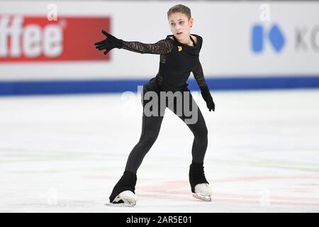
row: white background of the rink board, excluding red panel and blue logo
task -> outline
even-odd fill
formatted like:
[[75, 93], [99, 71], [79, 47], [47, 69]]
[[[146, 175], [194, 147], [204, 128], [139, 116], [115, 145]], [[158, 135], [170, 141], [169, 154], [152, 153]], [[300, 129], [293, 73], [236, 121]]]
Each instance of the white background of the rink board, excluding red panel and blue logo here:
[[[194, 17], [191, 33], [203, 37], [200, 60], [207, 77], [319, 73], [319, 3], [315, 1], [266, 2], [270, 21], [259, 18], [264, 1], [0, 1], [0, 14], [46, 16], [47, 4], [52, 3], [57, 4], [60, 16], [110, 16], [113, 35], [142, 43], [155, 43], [171, 34], [167, 10], [185, 4]], [[274, 23], [279, 25], [286, 39], [281, 52], [274, 52], [268, 40], [262, 53], [252, 52], [251, 29], [256, 23], [265, 31]], [[307, 28], [303, 38], [307, 51], [296, 50], [297, 28]], [[157, 73], [158, 64], [158, 55], [113, 50], [111, 62], [0, 64], [0, 80], [150, 78]]]

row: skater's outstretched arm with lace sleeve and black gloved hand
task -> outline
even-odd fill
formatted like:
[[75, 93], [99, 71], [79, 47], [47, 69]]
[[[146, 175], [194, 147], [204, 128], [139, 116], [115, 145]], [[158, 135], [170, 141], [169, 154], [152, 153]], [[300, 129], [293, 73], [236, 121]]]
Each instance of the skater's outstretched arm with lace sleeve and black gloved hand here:
[[102, 33], [106, 35], [106, 39], [94, 43], [94, 45], [96, 45], [96, 49], [98, 50], [105, 50], [104, 55], [113, 48], [123, 48], [125, 50], [139, 52], [142, 54], [149, 53], [157, 55], [167, 54], [173, 49], [173, 44], [170, 40], [159, 40], [157, 43], [140, 43], [138, 41], [124, 41], [118, 39], [106, 31], [102, 31]]

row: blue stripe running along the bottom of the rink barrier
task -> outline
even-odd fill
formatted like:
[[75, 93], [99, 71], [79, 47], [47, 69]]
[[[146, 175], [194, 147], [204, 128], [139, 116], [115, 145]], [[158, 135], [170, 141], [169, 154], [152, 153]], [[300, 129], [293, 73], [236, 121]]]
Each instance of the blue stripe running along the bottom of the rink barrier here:
[[[89, 79], [0, 82], [0, 96], [138, 92], [138, 86], [142, 86], [147, 81], [145, 79]], [[189, 79], [187, 83], [190, 90], [198, 90], [195, 79]], [[206, 83], [211, 92], [246, 89], [310, 89], [319, 88], [319, 74], [294, 75], [293, 77], [214, 77], [206, 78]]]

